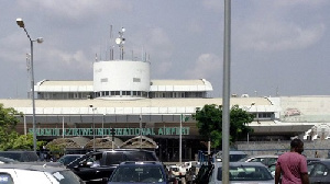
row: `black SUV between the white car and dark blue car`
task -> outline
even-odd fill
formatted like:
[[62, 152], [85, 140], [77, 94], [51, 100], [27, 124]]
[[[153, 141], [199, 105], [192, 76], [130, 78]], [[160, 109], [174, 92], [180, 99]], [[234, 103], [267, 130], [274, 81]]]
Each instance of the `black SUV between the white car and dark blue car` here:
[[158, 161], [154, 151], [114, 149], [89, 152], [67, 165], [87, 183], [107, 183], [113, 170], [124, 161]]

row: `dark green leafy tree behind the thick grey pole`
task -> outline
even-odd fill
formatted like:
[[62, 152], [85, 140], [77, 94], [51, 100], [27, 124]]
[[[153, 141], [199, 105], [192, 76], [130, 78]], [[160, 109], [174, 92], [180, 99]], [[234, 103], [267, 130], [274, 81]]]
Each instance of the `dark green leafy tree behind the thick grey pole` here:
[[[197, 120], [199, 135], [207, 137], [211, 141], [212, 148], [218, 148], [222, 143], [222, 105], [206, 104], [202, 108], [197, 108], [193, 118]], [[245, 137], [248, 133], [253, 133], [249, 127], [254, 118], [253, 114], [233, 105], [230, 110], [230, 141]]]

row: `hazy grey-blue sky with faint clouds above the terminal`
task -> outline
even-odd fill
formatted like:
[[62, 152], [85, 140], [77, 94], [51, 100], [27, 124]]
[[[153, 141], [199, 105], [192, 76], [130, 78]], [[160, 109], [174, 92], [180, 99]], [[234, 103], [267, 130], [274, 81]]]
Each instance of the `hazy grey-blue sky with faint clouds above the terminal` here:
[[[26, 99], [34, 81], [92, 80], [125, 28], [124, 58], [151, 61], [151, 79], [207, 79], [222, 97], [224, 0], [0, 0], [0, 99]], [[230, 93], [329, 95], [329, 0], [232, 0]], [[110, 31], [112, 27], [112, 31]], [[111, 34], [110, 34], [111, 33]], [[110, 38], [110, 35], [112, 37]]]

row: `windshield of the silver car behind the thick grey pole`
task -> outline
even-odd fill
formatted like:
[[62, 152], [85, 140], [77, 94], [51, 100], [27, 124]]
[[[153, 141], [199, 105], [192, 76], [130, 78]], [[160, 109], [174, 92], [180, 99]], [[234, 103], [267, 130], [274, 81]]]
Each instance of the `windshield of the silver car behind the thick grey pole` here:
[[[222, 180], [222, 169], [218, 168], [217, 180]], [[268, 181], [273, 180], [271, 172], [264, 166], [230, 166], [229, 169], [230, 181]]]

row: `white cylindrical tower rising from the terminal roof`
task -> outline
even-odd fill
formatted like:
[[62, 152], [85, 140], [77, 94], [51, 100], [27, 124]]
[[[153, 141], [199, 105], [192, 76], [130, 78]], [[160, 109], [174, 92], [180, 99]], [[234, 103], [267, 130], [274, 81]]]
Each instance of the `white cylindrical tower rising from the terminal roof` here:
[[150, 82], [148, 61], [110, 60], [94, 62], [95, 97], [147, 97]]

